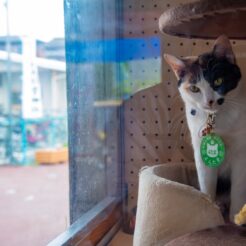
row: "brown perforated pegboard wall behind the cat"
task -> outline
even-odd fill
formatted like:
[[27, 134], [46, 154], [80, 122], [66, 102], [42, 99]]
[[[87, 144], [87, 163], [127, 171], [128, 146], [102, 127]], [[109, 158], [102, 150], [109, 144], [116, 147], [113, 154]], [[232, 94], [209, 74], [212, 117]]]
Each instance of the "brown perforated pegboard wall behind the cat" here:
[[[156, 68], [160, 73], [160, 81], [135, 93], [124, 104], [126, 203], [130, 215], [137, 204], [138, 174], [143, 166], [194, 161], [177, 79], [165, 63], [163, 54], [177, 57], [198, 55], [210, 51], [214, 41], [173, 37], [160, 33], [158, 29], [159, 16], [167, 8], [187, 2], [192, 1], [124, 1], [124, 36], [134, 38], [154, 35], [160, 40], [160, 64], [157, 64], [160, 67]], [[246, 50], [245, 42], [232, 40], [232, 45], [239, 66], [245, 71], [245, 56], [242, 52]], [[144, 46], [142, 49], [148, 53], [146, 49], [151, 48]], [[131, 76], [138, 70], [141, 70], [141, 66], [136, 66]], [[145, 68], [145, 73], [148, 73], [148, 68]]]

